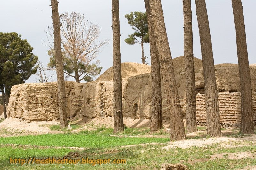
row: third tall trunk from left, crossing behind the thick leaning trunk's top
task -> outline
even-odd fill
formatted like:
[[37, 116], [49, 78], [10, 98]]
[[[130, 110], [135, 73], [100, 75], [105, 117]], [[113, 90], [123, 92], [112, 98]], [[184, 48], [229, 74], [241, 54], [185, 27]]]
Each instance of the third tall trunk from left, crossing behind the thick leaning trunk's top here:
[[151, 55], [151, 77], [152, 77], [152, 116], [150, 123], [150, 131], [153, 133], [162, 128], [162, 106], [161, 106], [161, 74], [160, 63], [158, 59], [156, 39], [154, 33], [154, 26], [151, 16], [151, 9], [149, 0], [145, 0], [145, 7], [148, 18], [148, 31], [150, 41], [150, 55]]

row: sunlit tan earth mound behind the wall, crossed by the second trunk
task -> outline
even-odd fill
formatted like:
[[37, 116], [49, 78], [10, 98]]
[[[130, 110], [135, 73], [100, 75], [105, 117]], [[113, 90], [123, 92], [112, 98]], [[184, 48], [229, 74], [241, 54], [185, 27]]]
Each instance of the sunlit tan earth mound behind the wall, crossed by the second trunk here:
[[[139, 63], [125, 62], [121, 63], [122, 79], [144, 73], [151, 73], [151, 66]], [[113, 80], [113, 67], [108, 68], [95, 81], [111, 81]]]

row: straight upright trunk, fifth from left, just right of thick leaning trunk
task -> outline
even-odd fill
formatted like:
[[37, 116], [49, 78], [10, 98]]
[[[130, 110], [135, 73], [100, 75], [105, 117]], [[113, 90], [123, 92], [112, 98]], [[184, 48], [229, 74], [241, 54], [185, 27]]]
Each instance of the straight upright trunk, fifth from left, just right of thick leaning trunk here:
[[191, 0], [183, 0], [183, 14], [184, 55], [186, 66], [186, 127], [188, 133], [192, 133], [197, 131], [197, 125]]

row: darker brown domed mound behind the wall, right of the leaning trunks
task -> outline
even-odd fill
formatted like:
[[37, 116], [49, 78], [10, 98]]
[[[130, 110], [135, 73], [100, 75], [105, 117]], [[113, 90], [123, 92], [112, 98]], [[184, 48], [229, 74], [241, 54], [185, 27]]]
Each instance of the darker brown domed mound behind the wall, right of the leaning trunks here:
[[[174, 70], [179, 70], [179, 69], [185, 70], [184, 56], [173, 58], [172, 63], [173, 63]], [[203, 67], [202, 60], [194, 57], [194, 65], [195, 65], [195, 68]]]

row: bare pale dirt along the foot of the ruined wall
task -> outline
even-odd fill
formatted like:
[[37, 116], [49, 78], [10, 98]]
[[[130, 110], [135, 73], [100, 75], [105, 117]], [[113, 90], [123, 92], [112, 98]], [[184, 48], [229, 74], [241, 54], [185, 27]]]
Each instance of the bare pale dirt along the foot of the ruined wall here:
[[[0, 123], [0, 137], [62, 133], [61, 131], [52, 131], [49, 129], [50, 126], [58, 124], [59, 120], [41, 122], [31, 121], [30, 123], [28, 123], [26, 121], [20, 122], [19, 118], [8, 117], [6, 120]], [[81, 130], [95, 130], [102, 126], [108, 128], [113, 126], [113, 117], [88, 119], [81, 116], [69, 119], [68, 124], [77, 124], [82, 126], [81, 128], [72, 130], [71, 132], [78, 132]], [[124, 117], [124, 125], [132, 128], [150, 127], [150, 120]], [[164, 121], [163, 125], [164, 127], [169, 127], [168, 121]]]

